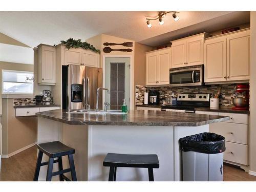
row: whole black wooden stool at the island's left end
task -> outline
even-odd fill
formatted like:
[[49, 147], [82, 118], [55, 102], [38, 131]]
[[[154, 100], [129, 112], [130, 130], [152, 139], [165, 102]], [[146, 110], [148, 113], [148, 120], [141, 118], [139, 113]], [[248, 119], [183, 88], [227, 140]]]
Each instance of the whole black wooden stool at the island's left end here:
[[[72, 181], [77, 181], [76, 179], [76, 170], [74, 164], [73, 154], [75, 153], [74, 148], [71, 148], [59, 141], [49, 142], [49, 143], [40, 143], [37, 144], [37, 148], [39, 150], [36, 167], [35, 167], [35, 174], [33, 181], [38, 181], [40, 167], [44, 165], [48, 165], [46, 181], [51, 181], [53, 176], [59, 175], [60, 181], [70, 181], [67, 178], [65, 173], [71, 172]], [[46, 154], [49, 157], [48, 162], [41, 162], [42, 161], [42, 154]], [[69, 157], [69, 165], [70, 168], [63, 169], [62, 167], [62, 156], [68, 155]], [[57, 158], [54, 160], [54, 158]], [[52, 172], [53, 163], [58, 163], [59, 171]]]

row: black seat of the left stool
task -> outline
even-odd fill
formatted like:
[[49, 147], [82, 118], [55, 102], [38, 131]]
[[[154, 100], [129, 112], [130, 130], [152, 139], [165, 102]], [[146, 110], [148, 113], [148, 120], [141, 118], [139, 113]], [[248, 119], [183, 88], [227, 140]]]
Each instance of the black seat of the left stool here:
[[38, 150], [49, 156], [50, 158], [66, 156], [74, 154], [74, 148], [71, 148], [59, 141], [37, 144]]

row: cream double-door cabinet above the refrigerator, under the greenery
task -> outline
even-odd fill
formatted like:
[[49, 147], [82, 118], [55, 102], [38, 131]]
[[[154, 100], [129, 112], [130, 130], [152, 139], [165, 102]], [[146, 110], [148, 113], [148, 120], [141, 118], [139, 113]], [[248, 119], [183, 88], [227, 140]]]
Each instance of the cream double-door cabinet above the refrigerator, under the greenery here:
[[64, 50], [64, 65], [99, 67], [99, 54], [82, 48]]

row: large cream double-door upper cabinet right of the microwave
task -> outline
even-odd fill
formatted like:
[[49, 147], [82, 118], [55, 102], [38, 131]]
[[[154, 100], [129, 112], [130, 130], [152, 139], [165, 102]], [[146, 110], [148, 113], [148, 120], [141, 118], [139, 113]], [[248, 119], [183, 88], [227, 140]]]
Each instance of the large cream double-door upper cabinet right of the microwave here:
[[250, 30], [205, 40], [205, 82], [250, 79]]

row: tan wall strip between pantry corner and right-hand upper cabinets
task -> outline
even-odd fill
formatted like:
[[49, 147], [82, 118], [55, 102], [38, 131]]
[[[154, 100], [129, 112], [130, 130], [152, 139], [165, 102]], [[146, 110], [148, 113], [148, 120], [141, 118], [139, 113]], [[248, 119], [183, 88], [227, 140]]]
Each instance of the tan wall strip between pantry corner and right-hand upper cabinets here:
[[145, 46], [135, 42], [134, 55], [134, 86], [140, 84], [145, 85], [146, 73], [146, 52], [152, 51], [153, 47]]

